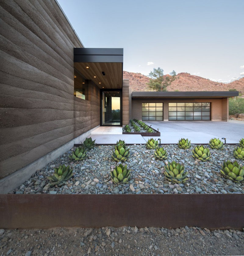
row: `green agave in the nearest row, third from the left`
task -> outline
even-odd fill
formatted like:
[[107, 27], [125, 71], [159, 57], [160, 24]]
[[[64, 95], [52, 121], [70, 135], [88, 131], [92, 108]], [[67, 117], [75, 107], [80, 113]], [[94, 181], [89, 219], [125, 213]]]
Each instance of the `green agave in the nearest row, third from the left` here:
[[169, 162], [164, 166], [164, 175], [169, 181], [173, 183], [184, 183], [188, 180], [186, 175], [188, 174], [185, 171], [184, 165], [176, 163], [175, 161]]

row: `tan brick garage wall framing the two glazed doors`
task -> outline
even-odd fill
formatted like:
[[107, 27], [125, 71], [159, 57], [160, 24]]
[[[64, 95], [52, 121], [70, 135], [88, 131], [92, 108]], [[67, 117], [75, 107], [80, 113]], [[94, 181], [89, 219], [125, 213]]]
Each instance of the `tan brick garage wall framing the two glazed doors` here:
[[163, 121], [169, 119], [169, 102], [210, 102], [211, 121], [228, 121], [228, 98], [224, 99], [132, 99], [131, 118], [142, 120], [142, 103], [163, 102]]

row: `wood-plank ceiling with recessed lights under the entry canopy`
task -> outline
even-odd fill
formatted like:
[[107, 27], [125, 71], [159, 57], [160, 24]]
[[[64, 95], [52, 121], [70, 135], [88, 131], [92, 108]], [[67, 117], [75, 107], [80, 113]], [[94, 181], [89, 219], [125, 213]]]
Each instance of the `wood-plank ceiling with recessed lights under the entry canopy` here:
[[[88, 80], [92, 80], [99, 88], [122, 88], [122, 62], [74, 62], [74, 67]], [[89, 67], [89, 68], [86, 68]], [[105, 76], [102, 75], [102, 71]], [[94, 76], [96, 78], [94, 78]], [[99, 82], [101, 84], [99, 84]]]

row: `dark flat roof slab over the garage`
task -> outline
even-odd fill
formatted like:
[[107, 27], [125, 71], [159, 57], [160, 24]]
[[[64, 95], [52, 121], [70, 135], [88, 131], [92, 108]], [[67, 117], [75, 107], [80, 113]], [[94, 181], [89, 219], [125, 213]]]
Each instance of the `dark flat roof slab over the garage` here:
[[132, 92], [132, 99], [174, 99], [174, 98], [230, 98], [238, 96], [237, 91], [207, 92]]

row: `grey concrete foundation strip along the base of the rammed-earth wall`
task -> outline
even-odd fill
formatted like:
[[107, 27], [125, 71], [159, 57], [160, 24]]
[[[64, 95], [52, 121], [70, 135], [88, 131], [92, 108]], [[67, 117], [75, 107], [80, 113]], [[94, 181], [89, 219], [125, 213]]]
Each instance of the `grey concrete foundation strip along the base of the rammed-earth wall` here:
[[52, 160], [55, 160], [57, 157], [65, 153], [67, 150], [71, 149], [74, 144], [81, 143], [86, 137], [91, 135], [91, 132], [97, 129], [100, 125], [92, 128], [91, 130], [84, 132], [83, 134], [79, 135], [78, 137], [72, 139], [71, 141], [67, 142], [63, 146], [53, 150], [52, 152], [46, 154], [43, 157], [35, 160], [34, 162], [28, 164], [27, 166], [21, 168], [18, 171], [2, 178], [0, 180], [0, 194], [7, 194], [13, 189], [16, 189], [18, 186], [22, 185], [27, 179], [31, 177], [38, 169], [43, 168]]

